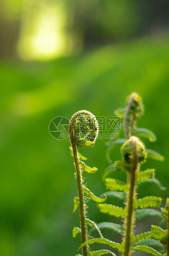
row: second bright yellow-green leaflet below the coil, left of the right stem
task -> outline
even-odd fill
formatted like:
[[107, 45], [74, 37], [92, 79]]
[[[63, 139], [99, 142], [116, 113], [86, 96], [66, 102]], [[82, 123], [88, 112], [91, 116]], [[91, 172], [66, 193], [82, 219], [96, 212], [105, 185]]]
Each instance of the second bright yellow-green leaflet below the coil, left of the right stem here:
[[116, 216], [116, 217], [122, 217], [124, 218], [125, 216], [124, 213], [123, 213], [123, 208], [122, 207], [118, 207], [118, 206], [115, 206], [115, 205], [112, 205], [112, 204], [99, 204], [98, 205], [100, 211], [102, 213], [108, 213], [109, 215], [113, 215], [113, 216]]

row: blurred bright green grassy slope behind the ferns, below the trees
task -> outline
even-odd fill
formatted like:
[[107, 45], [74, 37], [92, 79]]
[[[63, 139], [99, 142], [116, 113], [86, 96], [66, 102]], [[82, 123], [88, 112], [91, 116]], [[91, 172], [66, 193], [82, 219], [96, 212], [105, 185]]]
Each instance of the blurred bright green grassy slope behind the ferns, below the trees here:
[[[73, 239], [72, 229], [79, 225], [79, 213], [72, 213], [77, 192], [70, 143], [68, 138], [51, 137], [49, 123], [56, 116], [70, 119], [81, 109], [114, 116], [132, 91], [143, 97], [146, 109], [138, 126], [153, 130], [158, 138], [153, 144], [144, 140], [147, 148], [165, 156], [164, 163], [148, 159], [143, 168], [156, 168], [167, 190], [141, 187], [139, 196], [160, 195], [164, 205], [169, 196], [169, 36], [141, 38], [51, 62], [3, 61], [0, 84], [0, 255], [76, 255], [80, 236]], [[98, 196], [105, 192], [105, 142], [97, 140], [93, 149], [80, 149], [88, 157], [86, 164], [98, 168], [93, 175], [85, 174], [88, 188]], [[117, 147], [112, 159], [119, 157]], [[90, 219], [113, 220], [94, 202], [88, 205]], [[148, 220], [144, 224], [150, 228]]]

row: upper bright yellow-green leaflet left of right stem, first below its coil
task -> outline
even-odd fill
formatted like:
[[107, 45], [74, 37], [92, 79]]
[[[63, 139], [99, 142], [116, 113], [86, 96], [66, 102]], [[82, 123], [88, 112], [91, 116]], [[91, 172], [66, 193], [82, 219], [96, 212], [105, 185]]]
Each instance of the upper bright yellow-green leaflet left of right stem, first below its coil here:
[[123, 181], [119, 181], [112, 178], [106, 178], [106, 189], [109, 190], [119, 190], [127, 192], [129, 188], [129, 183], [124, 183]]

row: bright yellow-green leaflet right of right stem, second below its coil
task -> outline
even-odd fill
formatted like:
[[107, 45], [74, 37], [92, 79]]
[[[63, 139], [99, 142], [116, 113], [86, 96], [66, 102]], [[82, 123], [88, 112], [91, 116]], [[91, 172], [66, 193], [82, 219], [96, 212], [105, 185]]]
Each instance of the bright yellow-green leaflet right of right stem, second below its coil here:
[[137, 207], [140, 207], [141, 209], [143, 209], [148, 207], [159, 207], [161, 201], [161, 197], [143, 197], [135, 200], [134, 208], [137, 209]]

